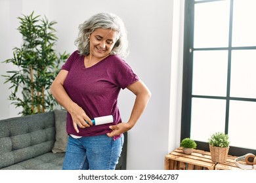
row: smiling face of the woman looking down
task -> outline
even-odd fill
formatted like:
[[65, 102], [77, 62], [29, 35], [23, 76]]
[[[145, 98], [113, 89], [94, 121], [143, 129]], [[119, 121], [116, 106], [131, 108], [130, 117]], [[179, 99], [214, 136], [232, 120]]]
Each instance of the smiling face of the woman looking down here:
[[90, 55], [98, 59], [110, 54], [117, 39], [116, 31], [111, 29], [95, 29], [90, 35]]

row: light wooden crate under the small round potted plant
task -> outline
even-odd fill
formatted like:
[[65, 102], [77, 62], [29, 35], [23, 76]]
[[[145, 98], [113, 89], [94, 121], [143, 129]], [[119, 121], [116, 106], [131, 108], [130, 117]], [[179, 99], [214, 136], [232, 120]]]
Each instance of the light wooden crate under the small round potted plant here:
[[187, 155], [177, 148], [165, 156], [165, 170], [214, 170], [216, 163], [211, 161], [210, 152], [194, 150]]

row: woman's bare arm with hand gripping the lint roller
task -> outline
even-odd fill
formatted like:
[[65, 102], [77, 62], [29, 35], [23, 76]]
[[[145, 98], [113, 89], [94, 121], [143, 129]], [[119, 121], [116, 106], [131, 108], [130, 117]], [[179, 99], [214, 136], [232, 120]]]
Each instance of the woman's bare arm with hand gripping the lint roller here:
[[[56, 78], [53, 81], [53, 84], [51, 85], [51, 93], [53, 94], [56, 101], [72, 116], [73, 125], [75, 131], [79, 133], [79, 130], [77, 128], [77, 125], [81, 128], [89, 127], [90, 125], [93, 125], [91, 122], [91, 119], [85, 114], [85, 111], [83, 108], [79, 107], [70, 97], [68, 96], [68, 93], [66, 93], [66, 90], [64, 89], [64, 81], [66, 79], [66, 76], [68, 75], [68, 71], [61, 70], [60, 73], [56, 76]], [[85, 122], [89, 122], [87, 124]]]

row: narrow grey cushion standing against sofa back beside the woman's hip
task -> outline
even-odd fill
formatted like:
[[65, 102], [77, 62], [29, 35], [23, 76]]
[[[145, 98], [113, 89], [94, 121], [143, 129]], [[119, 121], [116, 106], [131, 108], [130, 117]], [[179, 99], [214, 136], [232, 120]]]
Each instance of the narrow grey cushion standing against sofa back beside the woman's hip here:
[[54, 110], [54, 120], [55, 120], [55, 142], [53, 145], [52, 152], [66, 152], [66, 147], [68, 144], [68, 134], [66, 132], [66, 110]]

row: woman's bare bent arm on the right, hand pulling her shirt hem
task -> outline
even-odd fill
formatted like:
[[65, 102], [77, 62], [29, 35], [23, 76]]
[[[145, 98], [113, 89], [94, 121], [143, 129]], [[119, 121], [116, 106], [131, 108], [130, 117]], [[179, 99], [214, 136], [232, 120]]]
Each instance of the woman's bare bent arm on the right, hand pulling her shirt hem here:
[[120, 135], [121, 133], [131, 129], [139, 120], [151, 97], [150, 91], [141, 80], [131, 84], [127, 88], [136, 95], [133, 110], [131, 111], [131, 116], [127, 123], [111, 125], [110, 129], [112, 129], [112, 132], [107, 133], [108, 137]]

